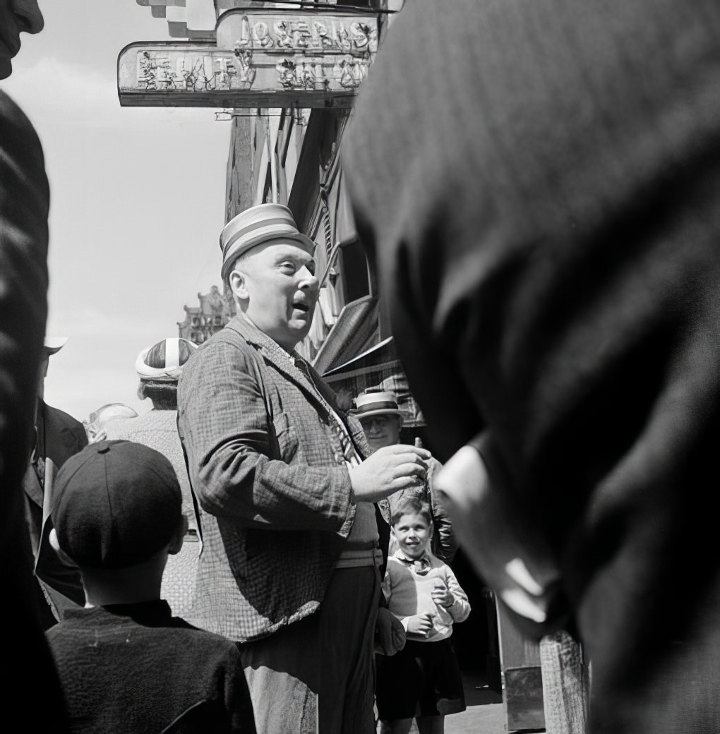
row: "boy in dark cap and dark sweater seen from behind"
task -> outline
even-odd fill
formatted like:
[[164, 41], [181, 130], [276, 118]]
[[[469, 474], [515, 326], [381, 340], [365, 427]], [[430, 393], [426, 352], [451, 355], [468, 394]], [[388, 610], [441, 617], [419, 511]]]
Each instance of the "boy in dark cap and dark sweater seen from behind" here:
[[51, 543], [79, 566], [87, 597], [46, 633], [73, 733], [241, 730], [235, 644], [160, 598], [186, 530], [181, 507], [172, 465], [139, 443], [92, 443], [57, 474]]

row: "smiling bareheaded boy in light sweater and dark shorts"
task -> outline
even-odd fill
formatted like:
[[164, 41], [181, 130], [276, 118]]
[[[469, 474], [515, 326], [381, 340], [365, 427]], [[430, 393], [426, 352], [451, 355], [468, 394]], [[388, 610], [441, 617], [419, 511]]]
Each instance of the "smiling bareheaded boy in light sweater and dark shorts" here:
[[378, 666], [381, 730], [407, 734], [414, 718], [420, 734], [440, 734], [446, 714], [465, 711], [450, 636], [453, 622], [468, 618], [470, 604], [450, 567], [429, 552], [428, 504], [413, 495], [402, 498], [393, 511], [392, 533], [397, 551], [388, 559], [382, 591], [407, 642]]

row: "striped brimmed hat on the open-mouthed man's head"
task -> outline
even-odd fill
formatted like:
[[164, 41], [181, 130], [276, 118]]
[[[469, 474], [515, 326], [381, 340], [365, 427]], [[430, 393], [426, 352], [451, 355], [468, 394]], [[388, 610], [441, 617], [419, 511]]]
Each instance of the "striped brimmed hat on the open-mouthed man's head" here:
[[228, 277], [230, 269], [243, 252], [274, 239], [289, 239], [297, 242], [303, 250], [315, 250], [315, 243], [298, 230], [292, 212], [282, 204], [258, 204], [236, 214], [220, 233], [222, 279]]

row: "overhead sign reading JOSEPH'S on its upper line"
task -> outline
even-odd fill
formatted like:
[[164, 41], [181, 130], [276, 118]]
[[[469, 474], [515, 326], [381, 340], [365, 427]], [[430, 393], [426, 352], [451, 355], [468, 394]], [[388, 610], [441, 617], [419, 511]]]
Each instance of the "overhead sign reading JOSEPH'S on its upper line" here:
[[217, 45], [123, 48], [117, 90], [121, 105], [350, 106], [377, 44], [374, 17], [231, 11]]

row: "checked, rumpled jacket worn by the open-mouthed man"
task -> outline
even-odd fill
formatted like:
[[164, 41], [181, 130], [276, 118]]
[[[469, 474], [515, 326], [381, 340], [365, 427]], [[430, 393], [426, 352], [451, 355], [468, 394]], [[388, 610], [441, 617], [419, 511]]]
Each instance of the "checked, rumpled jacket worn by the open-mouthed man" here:
[[[360, 423], [315, 381], [367, 457]], [[355, 512], [332, 420], [291, 355], [242, 316], [184, 366], [178, 432], [200, 504], [190, 615], [200, 627], [247, 642], [319, 607]]]

